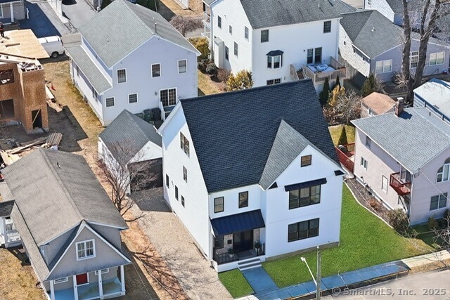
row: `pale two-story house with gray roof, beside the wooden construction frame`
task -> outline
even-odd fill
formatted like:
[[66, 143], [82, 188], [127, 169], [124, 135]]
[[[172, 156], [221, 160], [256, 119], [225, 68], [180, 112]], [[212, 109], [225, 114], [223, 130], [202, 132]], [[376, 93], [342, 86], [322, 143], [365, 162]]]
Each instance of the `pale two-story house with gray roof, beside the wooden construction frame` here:
[[164, 119], [180, 98], [197, 96], [199, 52], [159, 13], [117, 0], [79, 32], [81, 42], [65, 48], [70, 74], [104, 126], [124, 109], [159, 107]]

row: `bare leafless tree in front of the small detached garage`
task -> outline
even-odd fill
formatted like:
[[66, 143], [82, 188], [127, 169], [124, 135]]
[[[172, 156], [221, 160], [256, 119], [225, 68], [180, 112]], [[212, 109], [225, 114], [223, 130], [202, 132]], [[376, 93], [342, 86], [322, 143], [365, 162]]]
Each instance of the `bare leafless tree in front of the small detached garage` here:
[[[102, 178], [110, 184], [111, 200], [122, 216], [134, 206], [134, 201], [127, 197], [131, 185], [133, 190], [142, 190], [158, 178], [158, 174], [149, 172], [152, 162], [143, 160], [145, 153], [142, 150], [136, 153], [132, 145], [131, 141], [103, 148], [97, 161]], [[125, 221], [135, 221], [139, 218], [141, 216]]]

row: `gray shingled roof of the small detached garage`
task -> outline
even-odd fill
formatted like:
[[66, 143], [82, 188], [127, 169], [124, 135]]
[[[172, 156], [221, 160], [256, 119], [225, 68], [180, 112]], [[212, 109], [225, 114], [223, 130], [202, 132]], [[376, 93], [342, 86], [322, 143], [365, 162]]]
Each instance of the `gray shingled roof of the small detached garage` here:
[[[149, 141], [160, 147], [162, 145], [161, 136], [155, 126], [131, 114], [128, 110], [122, 110], [120, 115], [100, 133], [99, 137], [114, 157], [126, 155], [120, 159], [126, 162], [129, 162]], [[117, 145], [127, 145], [129, 148], [120, 154]]]

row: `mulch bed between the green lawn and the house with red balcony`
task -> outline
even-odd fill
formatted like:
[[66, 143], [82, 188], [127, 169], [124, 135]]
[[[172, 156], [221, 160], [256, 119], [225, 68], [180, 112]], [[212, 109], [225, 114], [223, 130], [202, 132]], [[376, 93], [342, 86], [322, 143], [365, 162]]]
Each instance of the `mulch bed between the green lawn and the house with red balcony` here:
[[371, 193], [370, 188], [366, 188], [364, 185], [356, 181], [355, 178], [349, 178], [345, 181], [350, 190], [352, 190], [354, 196], [356, 197], [356, 201], [364, 205], [368, 210], [375, 213], [377, 216], [380, 216], [381, 219], [387, 220], [387, 209], [383, 202], [375, 198], [373, 193]]

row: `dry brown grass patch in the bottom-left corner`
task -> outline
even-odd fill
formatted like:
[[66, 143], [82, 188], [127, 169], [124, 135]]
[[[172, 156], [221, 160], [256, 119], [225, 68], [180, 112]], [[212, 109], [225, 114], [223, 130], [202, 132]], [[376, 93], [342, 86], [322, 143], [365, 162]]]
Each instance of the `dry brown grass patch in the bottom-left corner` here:
[[20, 248], [0, 249], [0, 299], [46, 299], [27, 256]]

